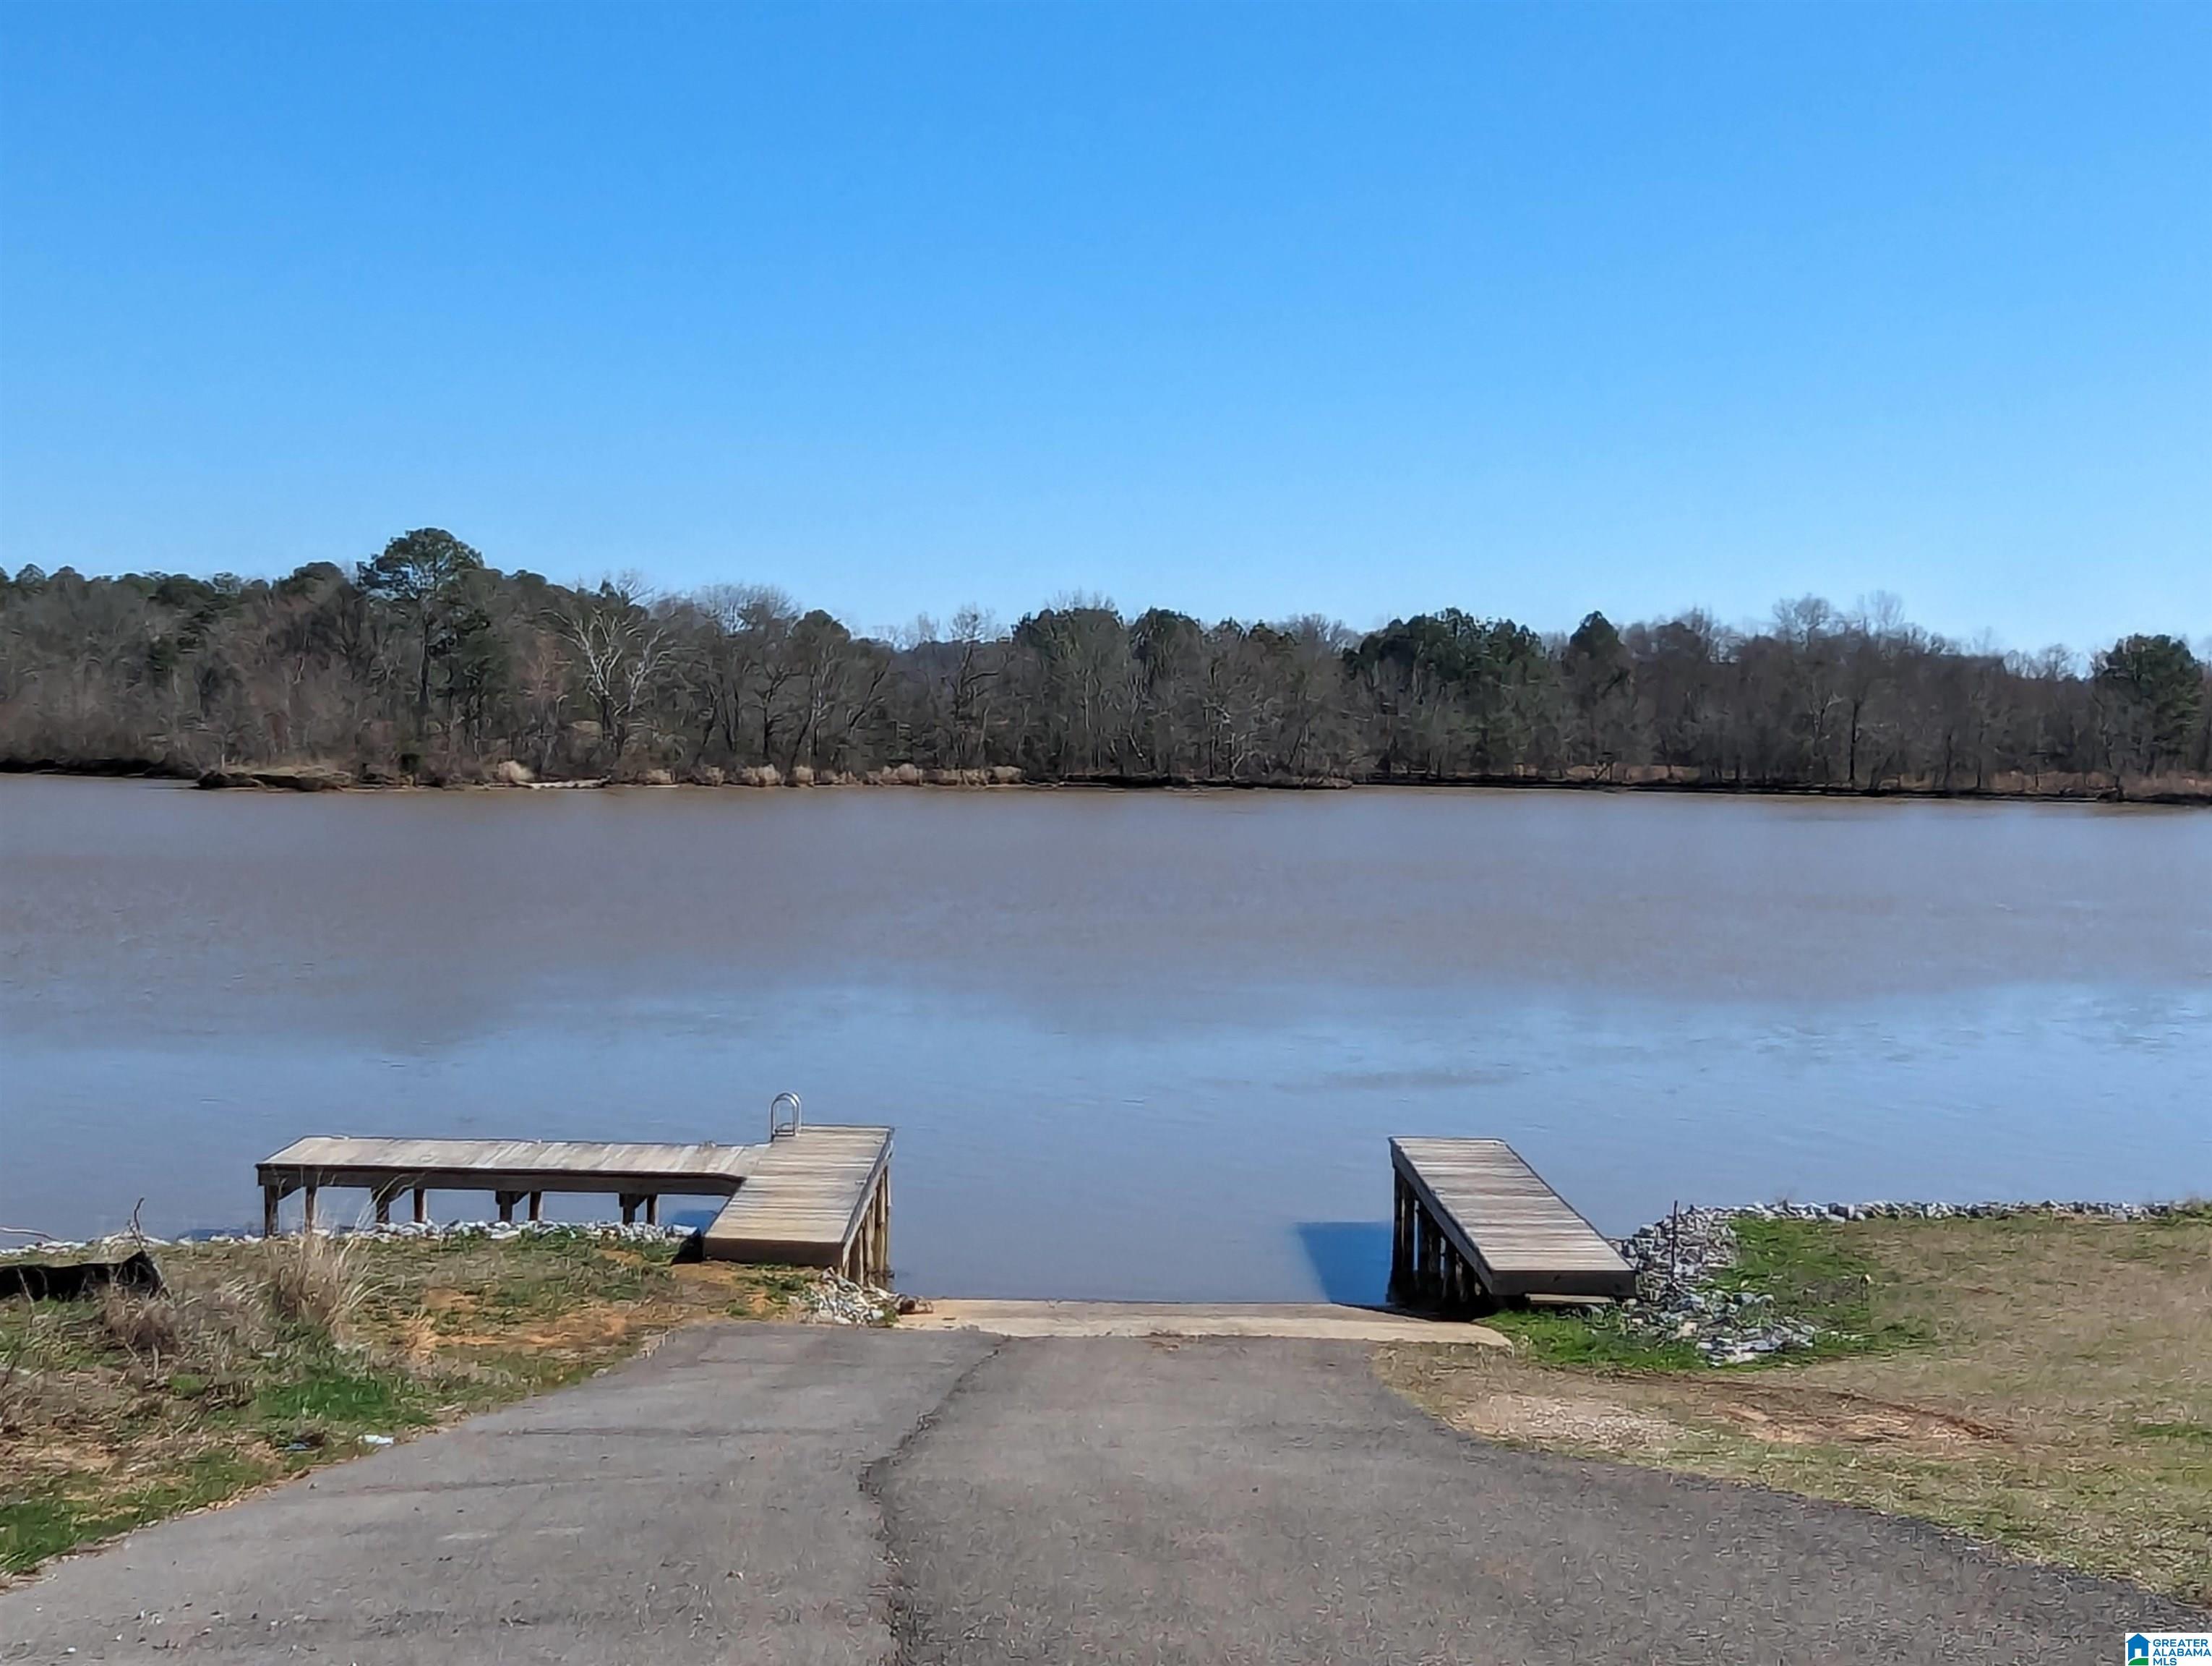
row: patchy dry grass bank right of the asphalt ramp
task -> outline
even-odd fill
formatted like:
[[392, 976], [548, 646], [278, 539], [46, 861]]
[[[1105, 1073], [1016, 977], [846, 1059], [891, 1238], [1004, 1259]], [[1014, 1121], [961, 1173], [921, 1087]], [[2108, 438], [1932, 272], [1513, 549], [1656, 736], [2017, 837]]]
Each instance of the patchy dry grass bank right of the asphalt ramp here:
[[2212, 1604], [2212, 1208], [1739, 1232], [1730, 1283], [1847, 1334], [1712, 1370], [1506, 1314], [1511, 1356], [1378, 1367], [1486, 1438], [1920, 1516]]

